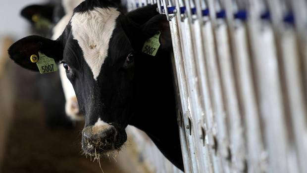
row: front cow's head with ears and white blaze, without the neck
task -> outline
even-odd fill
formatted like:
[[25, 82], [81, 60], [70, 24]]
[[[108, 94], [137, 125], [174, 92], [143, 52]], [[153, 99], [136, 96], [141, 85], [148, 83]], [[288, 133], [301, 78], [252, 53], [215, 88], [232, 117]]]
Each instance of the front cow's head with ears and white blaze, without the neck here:
[[8, 52], [17, 64], [34, 71], [38, 68], [30, 56], [39, 51], [63, 64], [85, 116], [82, 148], [97, 156], [119, 150], [127, 139], [125, 128], [135, 109], [136, 67], [154, 58], [141, 50], [157, 31], [161, 46], [156, 56], [171, 48], [168, 22], [156, 5], [124, 15], [109, 1], [86, 0], [74, 9], [57, 40], [29, 36]]

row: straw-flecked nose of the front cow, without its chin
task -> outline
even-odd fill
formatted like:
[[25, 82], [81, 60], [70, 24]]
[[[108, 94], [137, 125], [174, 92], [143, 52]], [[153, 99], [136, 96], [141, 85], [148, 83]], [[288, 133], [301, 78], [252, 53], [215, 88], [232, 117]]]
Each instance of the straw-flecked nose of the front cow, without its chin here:
[[83, 148], [88, 151], [113, 149], [116, 129], [111, 125], [88, 126], [82, 130]]

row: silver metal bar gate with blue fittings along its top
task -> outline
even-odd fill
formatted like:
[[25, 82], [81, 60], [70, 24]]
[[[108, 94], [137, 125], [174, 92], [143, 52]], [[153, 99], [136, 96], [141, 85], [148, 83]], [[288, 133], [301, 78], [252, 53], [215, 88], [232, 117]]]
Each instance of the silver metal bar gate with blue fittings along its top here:
[[307, 173], [307, 1], [127, 7], [153, 3], [172, 34], [185, 172]]

